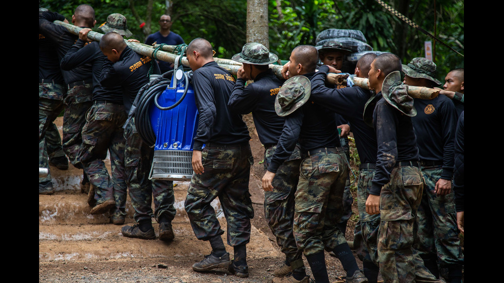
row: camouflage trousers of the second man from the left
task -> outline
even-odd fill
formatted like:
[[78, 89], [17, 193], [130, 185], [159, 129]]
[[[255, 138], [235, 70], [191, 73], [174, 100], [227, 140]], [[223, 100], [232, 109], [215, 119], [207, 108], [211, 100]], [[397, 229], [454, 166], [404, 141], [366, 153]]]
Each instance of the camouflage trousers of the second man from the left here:
[[79, 84], [68, 89], [63, 114], [63, 150], [76, 168], [82, 169], [79, 152], [82, 144], [82, 127], [86, 123], [86, 112], [93, 102], [93, 84]]

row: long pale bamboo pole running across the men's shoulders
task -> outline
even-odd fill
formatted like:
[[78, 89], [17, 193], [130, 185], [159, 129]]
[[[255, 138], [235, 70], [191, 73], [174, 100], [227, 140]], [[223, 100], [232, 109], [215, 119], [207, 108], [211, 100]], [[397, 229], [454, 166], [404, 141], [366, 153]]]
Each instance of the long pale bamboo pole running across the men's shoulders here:
[[[79, 31], [82, 29], [81, 27], [77, 27], [71, 24], [67, 24], [61, 21], [55, 21], [55, 24], [62, 25], [65, 27], [69, 32], [78, 35]], [[95, 32], [95, 31], [89, 31], [87, 33], [87, 38], [93, 41], [100, 41], [101, 37], [103, 36], [102, 33]], [[129, 42], [128, 40], [124, 40], [124, 42], [135, 52], [142, 54], [144, 56], [149, 56], [151, 58], [154, 58], [154, 46], [142, 44], [139, 42]], [[155, 45], [156, 47], [158, 45]], [[166, 51], [173, 52], [175, 51], [175, 47], [173, 45], [164, 45], [161, 46], [160, 50], [157, 51], [156, 53], [156, 58], [157, 60], [165, 61], [165, 62], [170, 62], [170, 63], [175, 63], [175, 60], [177, 58], [177, 54], [169, 53]], [[163, 51], [166, 50], [166, 51]], [[235, 75], [238, 73], [238, 69], [240, 66], [243, 64], [240, 62], [236, 62], [234, 60], [230, 59], [222, 59], [222, 58], [213, 58], [219, 66], [222, 68], [228, 70], [231, 74]], [[182, 56], [182, 65], [189, 67], [189, 62], [187, 61], [187, 58], [185, 56]], [[269, 64], [269, 67], [273, 70], [273, 73], [280, 79], [282, 79], [282, 68], [283, 66], [281, 65], [274, 65], [274, 64]], [[348, 79], [348, 74], [336, 74], [336, 73], [329, 73], [327, 75], [327, 82], [335, 85], [347, 85], [347, 79]], [[368, 86], [368, 79], [363, 79], [363, 78], [357, 78], [354, 77], [352, 78], [352, 81], [354, 85], [362, 87], [364, 89], [369, 89]], [[434, 89], [434, 88], [427, 88], [427, 87], [416, 87], [416, 86], [409, 86], [408, 87], [408, 95], [412, 98], [420, 98], [420, 99], [433, 99], [436, 98], [439, 95], [439, 89]]]

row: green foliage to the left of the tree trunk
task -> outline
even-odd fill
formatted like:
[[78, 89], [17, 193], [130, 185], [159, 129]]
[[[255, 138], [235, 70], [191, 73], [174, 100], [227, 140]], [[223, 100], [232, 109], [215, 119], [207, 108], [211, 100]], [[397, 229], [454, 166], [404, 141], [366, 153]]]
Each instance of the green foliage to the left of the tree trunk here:
[[[136, 15], [133, 13], [128, 0], [41, 0], [41, 7], [57, 11], [64, 15], [69, 22], [75, 8], [80, 4], [89, 4], [95, 9], [97, 24], [94, 31], [106, 21], [112, 13], [121, 13], [128, 19], [128, 29], [133, 33], [131, 38], [145, 42], [148, 34], [140, 28], [140, 24], [147, 23], [147, 1], [131, 1]], [[151, 32], [159, 30], [159, 16], [166, 12], [165, 1], [154, 1], [152, 6]], [[220, 58], [231, 58], [241, 51], [246, 43], [246, 0], [215, 1], [172, 1], [171, 30], [182, 36], [186, 44], [196, 37], [207, 39]]]

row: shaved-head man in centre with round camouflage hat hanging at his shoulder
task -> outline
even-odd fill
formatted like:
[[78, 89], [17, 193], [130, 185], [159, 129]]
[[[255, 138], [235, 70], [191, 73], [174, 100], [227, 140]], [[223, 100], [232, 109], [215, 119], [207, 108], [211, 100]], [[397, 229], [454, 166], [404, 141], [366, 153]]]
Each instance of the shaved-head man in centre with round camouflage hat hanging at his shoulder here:
[[275, 100], [277, 114], [285, 116], [282, 135], [262, 187], [272, 190], [278, 167], [301, 146], [299, 181], [294, 202], [294, 237], [307, 258], [315, 281], [329, 282], [324, 250], [332, 251], [347, 272], [347, 282], [367, 282], [358, 269], [345, 235], [337, 227], [343, 213], [343, 190], [348, 174], [344, 149], [337, 134], [334, 112], [310, 99], [310, 79], [317, 66], [311, 45], [292, 50], [285, 68], [289, 76]]

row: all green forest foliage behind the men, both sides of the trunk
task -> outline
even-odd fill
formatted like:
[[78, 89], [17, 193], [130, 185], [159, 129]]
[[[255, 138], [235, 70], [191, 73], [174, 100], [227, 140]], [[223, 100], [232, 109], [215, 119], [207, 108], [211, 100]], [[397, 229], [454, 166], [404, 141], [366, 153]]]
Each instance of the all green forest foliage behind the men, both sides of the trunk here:
[[[246, 43], [246, 0], [171, 2], [172, 31], [180, 34], [187, 44], [196, 37], [203, 37], [212, 43], [217, 56], [229, 59], [240, 52]], [[385, 2], [463, 54], [463, 0]], [[63, 14], [69, 21], [75, 7], [82, 3], [78, 0], [40, 1], [42, 7]], [[148, 22], [146, 0], [89, 0], [85, 3], [95, 8], [95, 31], [105, 22], [107, 15], [119, 12], [128, 18], [132, 37], [141, 42], [145, 41], [148, 34], [144, 33], [140, 24], [146, 22], [151, 27], [150, 33], [153, 33], [159, 30], [157, 20], [166, 11], [165, 1], [154, 0], [152, 22]], [[361, 30], [373, 50], [395, 53], [404, 64], [412, 58], [424, 56], [424, 42], [433, 41], [434, 62], [438, 65], [437, 78], [440, 81], [444, 81], [449, 70], [464, 66], [463, 56], [434, 42], [429, 36], [392, 15], [375, 0], [269, 0], [268, 10], [269, 46], [281, 60], [289, 59], [292, 49], [298, 45], [315, 45], [316, 36], [321, 31], [337, 28]]]

